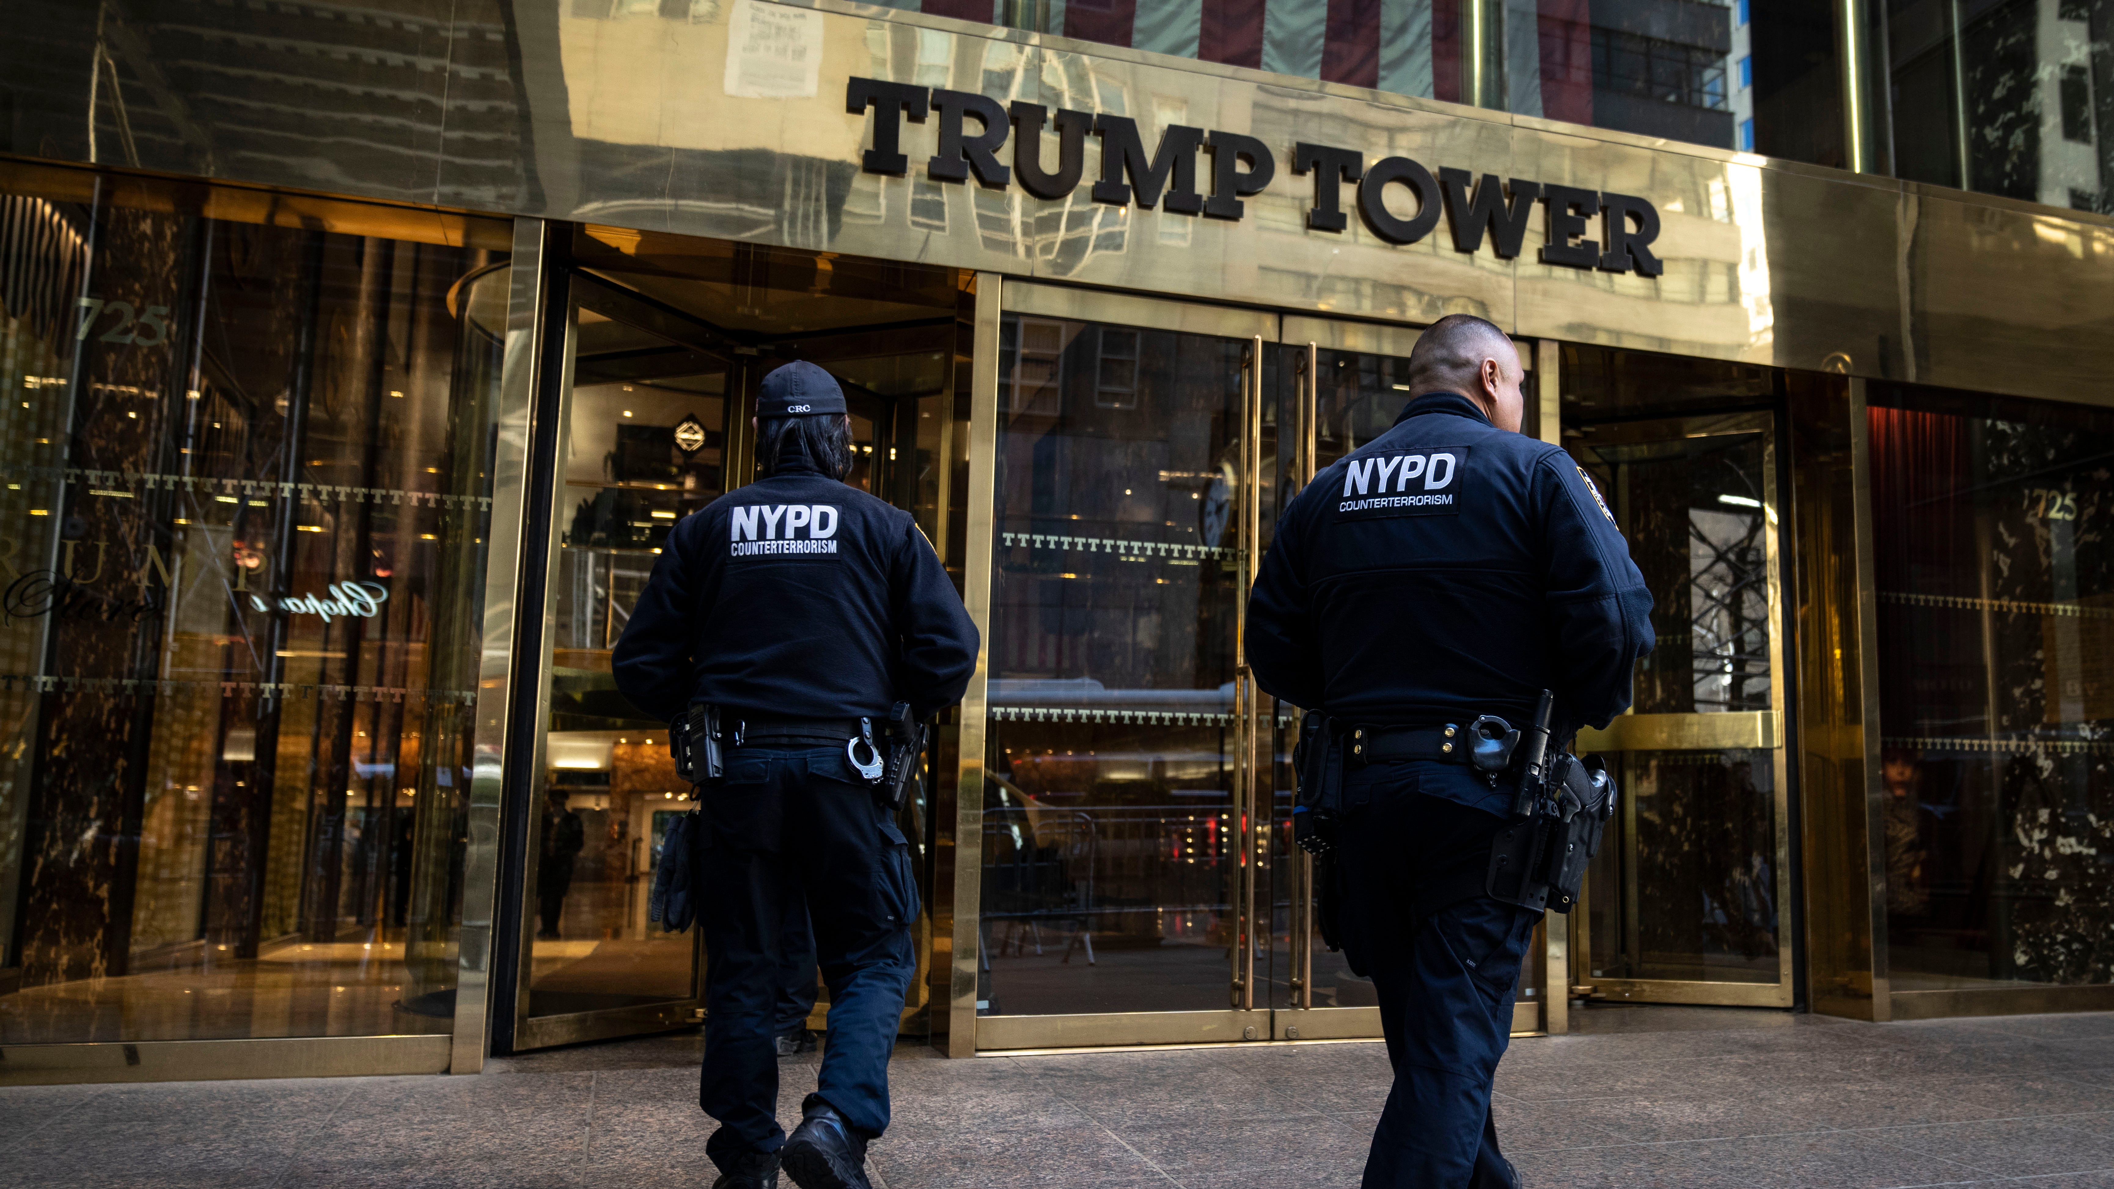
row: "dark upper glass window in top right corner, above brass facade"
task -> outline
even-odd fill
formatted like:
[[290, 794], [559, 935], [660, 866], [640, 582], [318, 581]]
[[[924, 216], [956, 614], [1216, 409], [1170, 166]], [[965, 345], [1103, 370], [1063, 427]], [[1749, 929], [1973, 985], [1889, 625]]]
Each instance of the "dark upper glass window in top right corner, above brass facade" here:
[[1888, 0], [1894, 171], [2114, 214], [2114, 0]]

